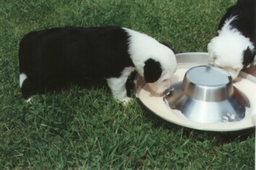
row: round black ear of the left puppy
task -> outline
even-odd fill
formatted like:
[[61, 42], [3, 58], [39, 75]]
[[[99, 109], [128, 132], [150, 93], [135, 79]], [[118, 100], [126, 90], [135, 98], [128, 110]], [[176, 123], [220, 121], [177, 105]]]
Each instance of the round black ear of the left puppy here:
[[162, 68], [159, 61], [148, 59], [144, 66], [144, 79], [146, 82], [155, 82], [162, 75]]

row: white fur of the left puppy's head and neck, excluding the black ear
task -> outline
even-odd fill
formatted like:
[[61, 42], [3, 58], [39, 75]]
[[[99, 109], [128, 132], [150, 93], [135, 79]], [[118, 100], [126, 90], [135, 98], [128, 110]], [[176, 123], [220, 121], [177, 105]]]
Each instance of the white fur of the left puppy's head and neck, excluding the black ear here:
[[[131, 55], [131, 59], [136, 66], [136, 71], [141, 76], [144, 76], [144, 62], [147, 59], [154, 59], [160, 62], [162, 75], [156, 82], [149, 83], [149, 87], [155, 93], [164, 92], [170, 87], [170, 77], [176, 72], [177, 61], [175, 54], [170, 48], [148, 35], [129, 30], [125, 27], [123, 29], [130, 36], [128, 40], [128, 53]], [[168, 80], [164, 81], [165, 79]]]

